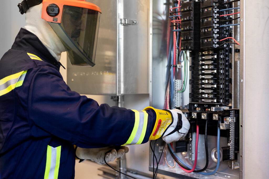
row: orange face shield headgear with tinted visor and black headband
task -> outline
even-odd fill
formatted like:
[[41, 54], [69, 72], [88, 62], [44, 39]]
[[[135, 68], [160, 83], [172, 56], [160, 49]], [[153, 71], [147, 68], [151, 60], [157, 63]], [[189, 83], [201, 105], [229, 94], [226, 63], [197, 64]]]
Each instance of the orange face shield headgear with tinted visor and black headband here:
[[[38, 3], [41, 0], [33, 0]], [[31, 0], [19, 3], [25, 13]], [[41, 2], [39, 2], [41, 3]], [[21, 6], [21, 8], [20, 8]], [[93, 67], [101, 9], [85, 0], [43, 0], [42, 16], [65, 46], [74, 66]], [[48, 34], [49, 35], [49, 34]]]

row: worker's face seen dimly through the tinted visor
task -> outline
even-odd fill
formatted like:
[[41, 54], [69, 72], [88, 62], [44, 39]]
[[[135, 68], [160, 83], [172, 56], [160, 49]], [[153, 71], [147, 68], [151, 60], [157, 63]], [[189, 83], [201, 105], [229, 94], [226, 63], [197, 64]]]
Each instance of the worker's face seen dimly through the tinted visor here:
[[62, 25], [67, 33], [74, 41], [80, 36], [80, 32], [85, 30], [84, 16], [82, 10], [69, 10], [63, 13]]

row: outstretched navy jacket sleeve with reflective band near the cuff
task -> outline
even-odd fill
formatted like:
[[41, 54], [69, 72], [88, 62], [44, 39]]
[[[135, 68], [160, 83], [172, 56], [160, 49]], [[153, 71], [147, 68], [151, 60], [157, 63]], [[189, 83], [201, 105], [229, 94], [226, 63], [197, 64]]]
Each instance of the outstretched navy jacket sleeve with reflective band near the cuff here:
[[98, 105], [71, 91], [61, 74], [47, 66], [33, 74], [28, 112], [33, 136], [45, 132], [83, 148], [146, 143], [156, 120], [153, 110]]

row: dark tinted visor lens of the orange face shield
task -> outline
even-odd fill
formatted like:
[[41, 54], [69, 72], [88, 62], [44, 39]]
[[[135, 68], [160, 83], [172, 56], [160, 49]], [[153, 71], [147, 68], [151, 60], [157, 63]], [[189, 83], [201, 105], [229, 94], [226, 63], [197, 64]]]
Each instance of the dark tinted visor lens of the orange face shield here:
[[70, 61], [76, 66], [93, 66], [100, 12], [75, 6], [63, 6], [61, 27], [77, 49], [64, 43]]

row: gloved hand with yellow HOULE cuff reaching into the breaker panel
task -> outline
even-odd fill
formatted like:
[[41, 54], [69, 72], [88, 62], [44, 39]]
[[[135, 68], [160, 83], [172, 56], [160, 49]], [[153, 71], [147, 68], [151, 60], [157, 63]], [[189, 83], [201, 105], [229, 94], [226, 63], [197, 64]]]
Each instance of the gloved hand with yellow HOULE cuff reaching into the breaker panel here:
[[160, 137], [166, 142], [178, 141], [186, 136], [190, 129], [190, 123], [179, 109], [155, 109], [147, 107], [144, 110], [153, 109], [156, 113], [156, 122], [149, 140]]

